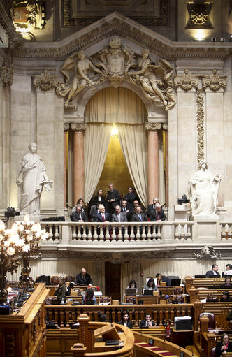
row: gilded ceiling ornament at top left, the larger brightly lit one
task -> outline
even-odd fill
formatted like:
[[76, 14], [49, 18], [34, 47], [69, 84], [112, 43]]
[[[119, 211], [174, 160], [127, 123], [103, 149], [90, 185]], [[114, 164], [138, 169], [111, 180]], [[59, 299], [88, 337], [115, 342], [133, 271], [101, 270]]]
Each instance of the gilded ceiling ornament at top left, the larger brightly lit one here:
[[33, 39], [29, 32], [44, 27], [45, 8], [41, 1], [13, 0], [10, 3], [10, 17], [17, 32], [27, 40]]

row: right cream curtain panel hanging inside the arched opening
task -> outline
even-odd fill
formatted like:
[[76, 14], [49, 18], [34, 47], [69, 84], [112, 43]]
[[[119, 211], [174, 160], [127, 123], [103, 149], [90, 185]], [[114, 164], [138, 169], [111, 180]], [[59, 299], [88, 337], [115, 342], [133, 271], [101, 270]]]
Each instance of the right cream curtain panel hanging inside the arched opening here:
[[122, 152], [141, 203], [147, 207], [147, 134], [144, 124], [118, 126]]

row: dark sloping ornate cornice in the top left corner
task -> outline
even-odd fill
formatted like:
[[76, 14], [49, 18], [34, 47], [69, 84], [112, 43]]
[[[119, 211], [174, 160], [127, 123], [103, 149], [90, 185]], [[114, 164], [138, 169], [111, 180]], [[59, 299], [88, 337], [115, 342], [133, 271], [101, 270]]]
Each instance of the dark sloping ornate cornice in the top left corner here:
[[22, 36], [17, 34], [13, 23], [10, 21], [2, 3], [0, 2], [0, 24], [3, 29], [8, 34], [9, 47], [10, 48], [20, 48], [23, 43]]

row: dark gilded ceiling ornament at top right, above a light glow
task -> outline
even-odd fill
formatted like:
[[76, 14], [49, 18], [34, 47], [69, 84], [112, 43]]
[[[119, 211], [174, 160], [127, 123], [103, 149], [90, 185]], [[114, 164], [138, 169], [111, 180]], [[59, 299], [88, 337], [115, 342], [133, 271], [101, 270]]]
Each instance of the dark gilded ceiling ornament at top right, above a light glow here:
[[209, 20], [210, 11], [212, 9], [212, 3], [187, 3], [187, 10], [190, 15], [190, 22], [196, 26], [206, 24]]

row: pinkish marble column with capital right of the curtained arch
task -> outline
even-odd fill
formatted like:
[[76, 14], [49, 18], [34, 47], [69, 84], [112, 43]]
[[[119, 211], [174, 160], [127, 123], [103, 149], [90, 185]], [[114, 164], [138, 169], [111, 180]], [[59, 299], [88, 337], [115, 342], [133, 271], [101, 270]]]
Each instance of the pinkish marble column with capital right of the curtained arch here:
[[158, 130], [161, 123], [147, 123], [148, 149], [147, 149], [147, 203], [151, 204], [154, 197], [159, 198], [159, 136]]

